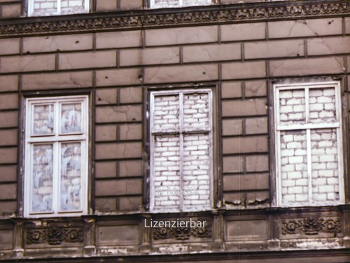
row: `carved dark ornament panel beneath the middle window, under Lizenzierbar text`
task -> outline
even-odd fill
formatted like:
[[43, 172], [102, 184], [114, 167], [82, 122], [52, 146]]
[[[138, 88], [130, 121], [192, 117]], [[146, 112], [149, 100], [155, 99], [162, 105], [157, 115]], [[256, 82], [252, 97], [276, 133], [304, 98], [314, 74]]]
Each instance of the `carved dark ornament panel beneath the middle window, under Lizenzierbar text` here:
[[187, 240], [191, 236], [195, 238], [211, 238], [211, 222], [206, 222], [204, 227], [159, 227], [153, 228], [153, 239], [174, 238]]

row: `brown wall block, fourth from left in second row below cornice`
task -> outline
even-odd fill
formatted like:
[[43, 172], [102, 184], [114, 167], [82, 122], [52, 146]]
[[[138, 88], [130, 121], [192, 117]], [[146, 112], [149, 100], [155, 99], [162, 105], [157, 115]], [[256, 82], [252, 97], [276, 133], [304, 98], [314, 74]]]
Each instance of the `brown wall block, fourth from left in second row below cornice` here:
[[185, 63], [239, 59], [241, 59], [239, 43], [183, 47], [183, 62]]

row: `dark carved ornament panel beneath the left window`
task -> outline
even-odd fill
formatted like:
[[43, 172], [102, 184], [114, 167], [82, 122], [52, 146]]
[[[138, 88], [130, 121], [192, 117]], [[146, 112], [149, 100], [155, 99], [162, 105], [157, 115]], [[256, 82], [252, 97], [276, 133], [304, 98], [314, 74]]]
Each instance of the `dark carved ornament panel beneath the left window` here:
[[27, 244], [59, 245], [62, 242], [82, 243], [83, 227], [51, 227], [45, 229], [27, 229]]

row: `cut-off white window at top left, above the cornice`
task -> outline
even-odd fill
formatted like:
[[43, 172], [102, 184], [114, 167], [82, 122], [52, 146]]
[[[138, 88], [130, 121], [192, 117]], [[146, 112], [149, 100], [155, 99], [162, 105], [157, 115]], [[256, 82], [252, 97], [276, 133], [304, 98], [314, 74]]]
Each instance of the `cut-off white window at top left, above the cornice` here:
[[28, 16], [88, 13], [89, 0], [28, 0]]

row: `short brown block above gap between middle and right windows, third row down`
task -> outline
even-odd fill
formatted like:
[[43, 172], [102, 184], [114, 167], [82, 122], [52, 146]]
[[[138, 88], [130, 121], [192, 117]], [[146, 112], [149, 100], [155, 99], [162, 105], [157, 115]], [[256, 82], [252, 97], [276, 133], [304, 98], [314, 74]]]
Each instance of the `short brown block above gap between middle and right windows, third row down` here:
[[266, 76], [265, 62], [223, 63], [223, 79], [252, 79]]

